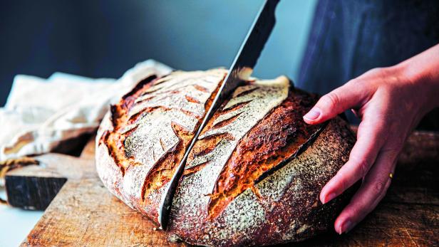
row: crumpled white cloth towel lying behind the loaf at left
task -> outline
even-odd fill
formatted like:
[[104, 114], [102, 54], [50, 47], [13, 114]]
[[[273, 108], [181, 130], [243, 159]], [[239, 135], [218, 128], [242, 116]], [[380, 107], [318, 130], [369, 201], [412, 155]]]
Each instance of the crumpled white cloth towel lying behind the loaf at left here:
[[112, 100], [143, 78], [171, 70], [148, 60], [118, 80], [64, 73], [48, 79], [16, 75], [6, 105], [0, 108], [0, 163], [51, 152], [61, 141], [94, 132]]

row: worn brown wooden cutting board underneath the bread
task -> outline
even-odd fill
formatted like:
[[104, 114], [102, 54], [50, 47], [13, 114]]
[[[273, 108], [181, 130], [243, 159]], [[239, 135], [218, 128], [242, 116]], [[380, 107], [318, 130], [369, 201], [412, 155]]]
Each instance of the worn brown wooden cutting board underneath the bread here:
[[[58, 192], [21, 246], [184, 245], [168, 242], [163, 231], [105, 189], [94, 168], [93, 139], [81, 157], [46, 154], [37, 159], [46, 167], [23, 167], [6, 175], [6, 186], [8, 181], [26, 184], [10, 188], [28, 195], [28, 201], [11, 198], [22, 206], [43, 204], [32, 198], [36, 191], [48, 200]], [[413, 133], [386, 197], [361, 224], [341, 236], [331, 230], [299, 246], [439, 246], [438, 174], [439, 134]]]

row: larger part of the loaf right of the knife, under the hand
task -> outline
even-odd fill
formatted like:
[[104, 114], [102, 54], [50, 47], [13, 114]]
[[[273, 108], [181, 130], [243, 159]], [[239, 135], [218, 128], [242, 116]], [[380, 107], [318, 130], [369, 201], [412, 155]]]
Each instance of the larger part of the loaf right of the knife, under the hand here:
[[[288, 89], [287, 82], [281, 77], [245, 85], [215, 112], [190, 152], [172, 201], [172, 239], [267, 245], [301, 241], [329, 228], [348, 193], [325, 205], [319, 193], [347, 162], [355, 138], [340, 117], [306, 125], [301, 116], [316, 97]], [[286, 95], [273, 90], [279, 85]]]

